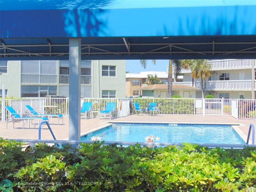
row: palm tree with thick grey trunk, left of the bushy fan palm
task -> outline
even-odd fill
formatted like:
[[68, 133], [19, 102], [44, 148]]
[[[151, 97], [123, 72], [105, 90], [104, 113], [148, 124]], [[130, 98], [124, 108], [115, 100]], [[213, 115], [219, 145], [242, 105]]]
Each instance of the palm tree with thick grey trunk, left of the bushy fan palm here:
[[[173, 68], [172, 68], [173, 65]], [[178, 75], [181, 73], [181, 60], [169, 60], [169, 70], [168, 70], [168, 98], [172, 98], [172, 74], [174, 74], [174, 78], [177, 80]]]

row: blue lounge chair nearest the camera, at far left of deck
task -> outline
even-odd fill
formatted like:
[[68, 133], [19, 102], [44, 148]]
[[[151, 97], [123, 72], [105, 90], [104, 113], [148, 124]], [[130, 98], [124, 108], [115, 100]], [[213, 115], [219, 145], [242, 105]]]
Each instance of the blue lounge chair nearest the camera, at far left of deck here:
[[[11, 113], [11, 117], [9, 117], [6, 121], [6, 129], [8, 127], [8, 120], [11, 120], [12, 123], [13, 123], [13, 128], [14, 128], [14, 122], [15, 121], [22, 121], [22, 129], [24, 128], [24, 121], [25, 120], [35, 120], [35, 128], [36, 128], [36, 119], [40, 120], [40, 121], [48, 121], [48, 118], [46, 117], [22, 117], [21, 114], [25, 114], [25, 115], [28, 115], [26, 113], [17, 113], [11, 106], [7, 106], [5, 107], [10, 113]], [[30, 123], [28, 122], [28, 128], [30, 126]]]

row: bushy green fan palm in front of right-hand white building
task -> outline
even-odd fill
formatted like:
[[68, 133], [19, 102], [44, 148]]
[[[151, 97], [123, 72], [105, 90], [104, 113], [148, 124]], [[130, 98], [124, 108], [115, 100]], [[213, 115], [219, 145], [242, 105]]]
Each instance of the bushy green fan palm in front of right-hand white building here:
[[211, 65], [206, 63], [205, 59], [195, 59], [191, 61], [193, 64], [190, 66], [192, 71], [192, 78], [200, 78], [201, 79], [201, 89], [202, 89], [202, 98], [205, 95], [205, 80], [206, 78], [211, 76]]

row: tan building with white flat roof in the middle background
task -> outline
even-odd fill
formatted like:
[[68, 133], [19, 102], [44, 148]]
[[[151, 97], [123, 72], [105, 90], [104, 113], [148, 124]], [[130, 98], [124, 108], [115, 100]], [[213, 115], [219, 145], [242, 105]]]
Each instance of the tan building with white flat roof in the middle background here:
[[[165, 71], [142, 71], [140, 73], [126, 73], [125, 96], [130, 97], [142, 95], [143, 90], [138, 89], [146, 86], [146, 81], [148, 81], [148, 74], [153, 76], [157, 75], [157, 78], [164, 81], [164, 84], [167, 84], [168, 73]], [[182, 76], [178, 76], [177, 82], [181, 81]]]

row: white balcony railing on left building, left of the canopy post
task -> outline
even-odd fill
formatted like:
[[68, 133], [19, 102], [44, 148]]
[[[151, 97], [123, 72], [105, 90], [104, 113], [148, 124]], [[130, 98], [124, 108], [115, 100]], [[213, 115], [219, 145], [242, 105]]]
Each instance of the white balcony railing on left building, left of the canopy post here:
[[21, 74], [21, 83], [57, 84], [57, 75]]

